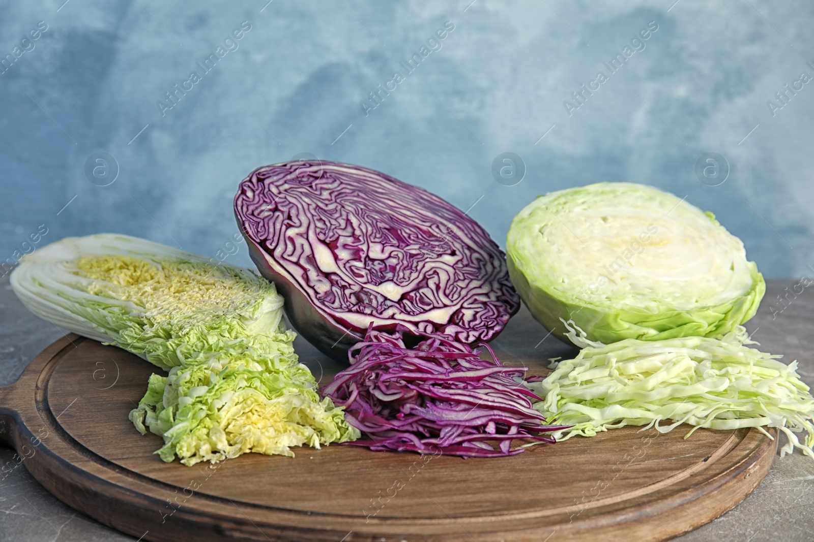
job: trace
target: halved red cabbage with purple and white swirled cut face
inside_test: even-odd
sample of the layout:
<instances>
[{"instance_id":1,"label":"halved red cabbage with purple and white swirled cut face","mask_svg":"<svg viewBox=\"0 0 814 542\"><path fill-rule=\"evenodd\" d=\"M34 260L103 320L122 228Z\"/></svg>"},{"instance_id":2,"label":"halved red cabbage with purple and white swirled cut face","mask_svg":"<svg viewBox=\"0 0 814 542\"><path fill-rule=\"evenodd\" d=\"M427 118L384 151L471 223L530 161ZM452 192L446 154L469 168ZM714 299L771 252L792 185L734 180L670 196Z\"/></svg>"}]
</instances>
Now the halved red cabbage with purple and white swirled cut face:
<instances>
[{"instance_id":1,"label":"halved red cabbage with purple and white swirled cut face","mask_svg":"<svg viewBox=\"0 0 814 542\"><path fill-rule=\"evenodd\" d=\"M492 340L519 308L505 255L440 197L347 164L260 167L234 213L300 335L344 360L365 330Z\"/></svg>"}]
</instances>

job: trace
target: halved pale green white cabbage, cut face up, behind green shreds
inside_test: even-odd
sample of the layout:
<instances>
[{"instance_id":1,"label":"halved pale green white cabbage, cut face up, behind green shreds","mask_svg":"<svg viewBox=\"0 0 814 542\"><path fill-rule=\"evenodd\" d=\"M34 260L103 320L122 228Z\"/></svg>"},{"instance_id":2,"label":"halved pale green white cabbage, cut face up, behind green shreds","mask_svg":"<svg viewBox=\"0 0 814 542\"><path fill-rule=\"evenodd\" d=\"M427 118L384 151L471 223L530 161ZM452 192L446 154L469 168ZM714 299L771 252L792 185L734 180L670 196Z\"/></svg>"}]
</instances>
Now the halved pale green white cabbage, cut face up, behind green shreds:
<instances>
[{"instance_id":1,"label":"halved pale green white cabbage, cut face up, behind green shreds","mask_svg":"<svg viewBox=\"0 0 814 542\"><path fill-rule=\"evenodd\" d=\"M720 338L765 293L742 242L711 213L659 189L598 183L538 197L514 218L509 273L534 317L589 339Z\"/></svg>"}]
</instances>

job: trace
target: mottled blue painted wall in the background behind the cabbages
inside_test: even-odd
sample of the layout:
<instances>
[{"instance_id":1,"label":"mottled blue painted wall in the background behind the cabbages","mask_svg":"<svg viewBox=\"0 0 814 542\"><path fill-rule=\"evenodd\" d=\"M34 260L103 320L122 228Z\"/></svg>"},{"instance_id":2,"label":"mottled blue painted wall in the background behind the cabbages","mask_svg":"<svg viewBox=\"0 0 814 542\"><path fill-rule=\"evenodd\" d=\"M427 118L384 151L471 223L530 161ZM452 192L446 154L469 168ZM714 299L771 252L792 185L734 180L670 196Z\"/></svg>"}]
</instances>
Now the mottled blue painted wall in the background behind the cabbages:
<instances>
[{"instance_id":1,"label":"mottled blue painted wall in the background behind the cabbages","mask_svg":"<svg viewBox=\"0 0 814 542\"><path fill-rule=\"evenodd\" d=\"M0 2L3 260L103 231L215 255L239 180L309 152L477 202L501 245L537 194L654 184L714 212L765 275L814 271L811 2L63 1ZM395 86L378 105L377 85ZM98 152L112 184L86 175ZM519 184L492 176L503 152ZM708 152L723 184L696 176Z\"/></svg>"}]
</instances>

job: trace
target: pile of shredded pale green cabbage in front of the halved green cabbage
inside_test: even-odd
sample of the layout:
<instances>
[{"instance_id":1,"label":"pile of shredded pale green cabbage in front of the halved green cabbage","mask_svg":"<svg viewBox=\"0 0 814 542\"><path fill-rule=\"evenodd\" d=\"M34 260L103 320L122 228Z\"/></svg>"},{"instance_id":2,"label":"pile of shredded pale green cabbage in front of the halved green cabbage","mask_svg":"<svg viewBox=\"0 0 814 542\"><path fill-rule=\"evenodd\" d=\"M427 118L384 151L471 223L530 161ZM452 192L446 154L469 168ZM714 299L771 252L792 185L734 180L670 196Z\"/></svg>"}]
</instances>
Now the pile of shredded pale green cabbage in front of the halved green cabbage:
<instances>
[{"instance_id":1,"label":"pile of shredded pale green cabbage in front of the halved green cabbage","mask_svg":"<svg viewBox=\"0 0 814 542\"><path fill-rule=\"evenodd\" d=\"M565 323L564 323L565 324ZM540 382L527 384L548 423L570 425L557 440L594 436L626 425L666 433L681 423L711 429L778 427L788 436L781 457L799 448L814 458L814 397L799 379L797 362L747 347L757 344L736 327L723 339L681 337L655 342L589 344L565 324L576 358L558 363ZM581 330L580 330L581 331ZM665 426L659 423L669 422ZM795 432L806 431L801 442Z\"/></svg>"}]
</instances>

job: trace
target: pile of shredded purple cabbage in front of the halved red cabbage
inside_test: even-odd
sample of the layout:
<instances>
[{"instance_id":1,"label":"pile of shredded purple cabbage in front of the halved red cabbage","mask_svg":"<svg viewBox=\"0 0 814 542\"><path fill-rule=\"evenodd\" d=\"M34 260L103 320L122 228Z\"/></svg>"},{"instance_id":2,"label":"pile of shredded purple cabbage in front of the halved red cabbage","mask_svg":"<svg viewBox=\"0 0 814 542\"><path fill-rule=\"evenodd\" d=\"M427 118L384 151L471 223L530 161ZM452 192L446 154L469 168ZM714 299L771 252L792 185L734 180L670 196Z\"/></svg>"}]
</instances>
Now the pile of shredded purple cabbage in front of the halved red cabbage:
<instances>
[{"instance_id":1,"label":"pile of shredded purple cabbage in front of the halved red cabbage","mask_svg":"<svg viewBox=\"0 0 814 542\"><path fill-rule=\"evenodd\" d=\"M540 398L521 384L527 367L503 366L489 353L494 361L437 335L408 349L400 332L369 331L349 350L352 365L322 395L344 406L348 425L370 436L348 444L377 451L496 457L522 453L510 448L515 439L553 443L540 433L565 427L544 425L532 408L529 398Z\"/></svg>"}]
</instances>

